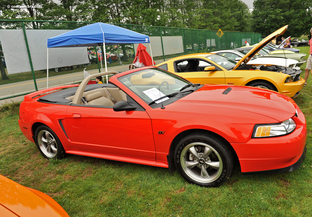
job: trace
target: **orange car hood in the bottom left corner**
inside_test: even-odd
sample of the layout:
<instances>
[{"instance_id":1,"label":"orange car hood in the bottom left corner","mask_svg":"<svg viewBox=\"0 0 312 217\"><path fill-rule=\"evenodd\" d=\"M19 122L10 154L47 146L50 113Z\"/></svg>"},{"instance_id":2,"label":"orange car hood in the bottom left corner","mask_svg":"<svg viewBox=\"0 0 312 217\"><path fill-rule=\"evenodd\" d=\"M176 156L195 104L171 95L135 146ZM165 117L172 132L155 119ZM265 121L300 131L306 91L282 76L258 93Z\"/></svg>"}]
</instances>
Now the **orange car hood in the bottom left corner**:
<instances>
[{"instance_id":1,"label":"orange car hood in the bottom left corner","mask_svg":"<svg viewBox=\"0 0 312 217\"><path fill-rule=\"evenodd\" d=\"M21 217L69 217L65 210L51 197L0 175L1 205ZM3 207L1 208L4 209Z\"/></svg>"}]
</instances>

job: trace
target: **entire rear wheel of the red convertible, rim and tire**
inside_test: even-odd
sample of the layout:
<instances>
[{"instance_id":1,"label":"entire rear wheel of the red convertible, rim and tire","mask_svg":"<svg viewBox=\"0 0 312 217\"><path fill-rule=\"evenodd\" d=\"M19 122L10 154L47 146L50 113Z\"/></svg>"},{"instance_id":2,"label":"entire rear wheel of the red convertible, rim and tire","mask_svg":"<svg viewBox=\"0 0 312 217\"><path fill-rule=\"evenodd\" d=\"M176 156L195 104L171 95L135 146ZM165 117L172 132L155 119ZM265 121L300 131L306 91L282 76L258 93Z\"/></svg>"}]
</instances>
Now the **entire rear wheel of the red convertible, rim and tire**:
<instances>
[{"instance_id":1,"label":"entire rear wheel of the red convertible, rim and tire","mask_svg":"<svg viewBox=\"0 0 312 217\"><path fill-rule=\"evenodd\" d=\"M43 157L62 159L66 155L60 139L50 127L41 125L36 129L35 142Z\"/></svg>"}]
</instances>

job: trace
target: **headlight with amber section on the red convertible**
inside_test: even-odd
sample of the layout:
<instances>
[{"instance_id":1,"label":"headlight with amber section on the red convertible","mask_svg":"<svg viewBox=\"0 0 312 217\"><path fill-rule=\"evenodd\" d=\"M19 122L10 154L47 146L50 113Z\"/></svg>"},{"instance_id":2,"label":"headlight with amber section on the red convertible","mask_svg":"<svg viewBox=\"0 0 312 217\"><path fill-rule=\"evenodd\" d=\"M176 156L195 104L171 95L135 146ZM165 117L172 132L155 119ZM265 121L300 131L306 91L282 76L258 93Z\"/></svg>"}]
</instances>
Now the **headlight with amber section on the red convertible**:
<instances>
[{"instance_id":1,"label":"headlight with amber section on the red convertible","mask_svg":"<svg viewBox=\"0 0 312 217\"><path fill-rule=\"evenodd\" d=\"M276 124L257 124L252 133L252 138L283 136L290 134L295 128L296 123L292 118Z\"/></svg>"}]
</instances>

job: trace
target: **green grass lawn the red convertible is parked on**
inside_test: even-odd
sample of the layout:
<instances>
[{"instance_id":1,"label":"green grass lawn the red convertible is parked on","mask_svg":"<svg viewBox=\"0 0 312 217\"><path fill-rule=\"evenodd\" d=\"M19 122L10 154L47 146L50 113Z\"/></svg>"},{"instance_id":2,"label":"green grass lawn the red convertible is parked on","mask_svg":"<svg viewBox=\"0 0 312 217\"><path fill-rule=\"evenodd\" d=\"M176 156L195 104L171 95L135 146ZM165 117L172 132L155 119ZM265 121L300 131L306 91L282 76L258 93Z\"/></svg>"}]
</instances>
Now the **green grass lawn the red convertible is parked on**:
<instances>
[{"instance_id":1,"label":"green grass lawn the red convertible is parked on","mask_svg":"<svg viewBox=\"0 0 312 217\"><path fill-rule=\"evenodd\" d=\"M308 54L308 47L299 49ZM0 174L45 192L72 217L311 216L311 90L310 75L295 98L307 120L308 149L302 166L293 172L243 175L236 165L221 187L202 188L166 168L78 155L49 161L20 131L15 103L0 107Z\"/></svg>"}]
</instances>

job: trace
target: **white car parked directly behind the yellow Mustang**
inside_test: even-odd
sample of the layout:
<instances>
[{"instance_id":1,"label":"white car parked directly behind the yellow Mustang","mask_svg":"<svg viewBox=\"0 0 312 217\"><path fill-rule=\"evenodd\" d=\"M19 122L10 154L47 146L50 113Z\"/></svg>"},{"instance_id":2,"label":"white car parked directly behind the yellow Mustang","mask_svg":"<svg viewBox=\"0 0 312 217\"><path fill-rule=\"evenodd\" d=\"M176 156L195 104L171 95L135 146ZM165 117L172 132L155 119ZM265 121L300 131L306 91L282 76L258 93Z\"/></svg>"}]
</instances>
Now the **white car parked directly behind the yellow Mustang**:
<instances>
[{"instance_id":1,"label":"white car parked directly behind the yellow Mustang","mask_svg":"<svg viewBox=\"0 0 312 217\"><path fill-rule=\"evenodd\" d=\"M213 51L210 53L220 54L236 62L238 62L241 58L243 58L246 55L246 53L240 50L218 50L218 51ZM255 56L253 59L251 59L248 62L248 64L280 65L280 66L291 67L291 68L300 70L300 67L297 66L297 63L298 61L295 59L289 59L289 58L283 58L283 57L264 57L264 56L258 56L258 57Z\"/></svg>"}]
</instances>

